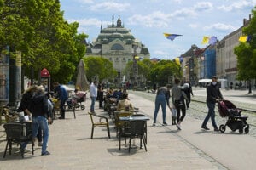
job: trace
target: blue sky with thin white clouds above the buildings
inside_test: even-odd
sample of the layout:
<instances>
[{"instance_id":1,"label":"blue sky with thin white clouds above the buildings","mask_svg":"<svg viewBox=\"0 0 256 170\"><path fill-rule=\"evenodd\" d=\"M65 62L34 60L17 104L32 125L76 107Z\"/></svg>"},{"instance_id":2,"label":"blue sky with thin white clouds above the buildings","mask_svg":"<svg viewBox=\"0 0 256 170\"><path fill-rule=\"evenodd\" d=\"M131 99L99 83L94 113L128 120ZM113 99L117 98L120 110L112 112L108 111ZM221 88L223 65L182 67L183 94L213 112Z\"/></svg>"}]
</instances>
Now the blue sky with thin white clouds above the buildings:
<instances>
[{"instance_id":1,"label":"blue sky with thin white clouds above the buildings","mask_svg":"<svg viewBox=\"0 0 256 170\"><path fill-rule=\"evenodd\" d=\"M151 58L174 59L195 44L199 48L204 36L223 39L249 18L256 0L60 0L64 18L79 22L79 33L92 42L119 18L125 28L142 42ZM173 41L163 33L179 34Z\"/></svg>"}]
</instances>

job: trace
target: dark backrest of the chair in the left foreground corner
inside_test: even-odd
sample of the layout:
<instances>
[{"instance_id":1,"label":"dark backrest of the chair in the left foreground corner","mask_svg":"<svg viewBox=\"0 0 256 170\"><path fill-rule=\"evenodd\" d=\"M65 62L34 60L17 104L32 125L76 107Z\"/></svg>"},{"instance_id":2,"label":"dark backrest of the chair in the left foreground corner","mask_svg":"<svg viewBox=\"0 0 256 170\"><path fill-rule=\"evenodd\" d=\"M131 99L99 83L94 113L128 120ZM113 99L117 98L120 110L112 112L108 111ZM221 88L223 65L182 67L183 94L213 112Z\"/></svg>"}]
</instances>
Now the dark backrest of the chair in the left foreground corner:
<instances>
[{"instance_id":1,"label":"dark backrest of the chair in the left foreground corner","mask_svg":"<svg viewBox=\"0 0 256 170\"><path fill-rule=\"evenodd\" d=\"M26 134L24 134L24 129L26 129L25 124L21 123L6 123L3 125L7 139L20 140Z\"/></svg>"}]
</instances>

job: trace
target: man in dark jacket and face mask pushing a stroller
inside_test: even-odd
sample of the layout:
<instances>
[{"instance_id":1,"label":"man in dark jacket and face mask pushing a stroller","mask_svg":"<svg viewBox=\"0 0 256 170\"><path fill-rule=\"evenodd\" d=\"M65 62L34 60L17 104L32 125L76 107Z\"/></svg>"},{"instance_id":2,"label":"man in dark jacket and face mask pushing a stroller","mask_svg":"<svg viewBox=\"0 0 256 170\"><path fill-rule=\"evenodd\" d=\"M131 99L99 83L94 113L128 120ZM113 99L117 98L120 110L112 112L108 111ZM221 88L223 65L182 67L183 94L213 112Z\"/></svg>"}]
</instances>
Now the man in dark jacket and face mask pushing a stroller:
<instances>
[{"instance_id":1,"label":"man in dark jacket and face mask pushing a stroller","mask_svg":"<svg viewBox=\"0 0 256 170\"><path fill-rule=\"evenodd\" d=\"M218 99L223 99L223 96L219 90L218 85L218 78L213 76L212 82L209 86L207 86L207 107L208 107L208 114L204 120L204 122L201 125L201 128L205 130L210 130L207 127L207 122L209 121L211 117L212 121L212 127L214 128L214 131L218 131L217 124L215 122L215 104L218 101Z\"/></svg>"}]
</instances>

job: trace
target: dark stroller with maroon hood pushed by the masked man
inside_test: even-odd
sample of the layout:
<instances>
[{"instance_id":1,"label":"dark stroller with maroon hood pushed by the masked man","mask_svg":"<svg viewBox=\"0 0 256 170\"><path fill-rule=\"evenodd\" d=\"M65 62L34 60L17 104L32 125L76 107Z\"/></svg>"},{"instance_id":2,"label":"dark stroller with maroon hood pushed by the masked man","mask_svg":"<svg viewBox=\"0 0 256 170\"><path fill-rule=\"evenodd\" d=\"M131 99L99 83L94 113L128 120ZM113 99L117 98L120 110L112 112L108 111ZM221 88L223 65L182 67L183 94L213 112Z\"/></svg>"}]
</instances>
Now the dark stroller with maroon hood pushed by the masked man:
<instances>
[{"instance_id":1,"label":"dark stroller with maroon hood pushed by the masked man","mask_svg":"<svg viewBox=\"0 0 256 170\"><path fill-rule=\"evenodd\" d=\"M226 124L219 126L219 131L224 133L226 126L235 132L237 129L239 133L249 133L249 125L247 124L247 116L241 115L241 109L236 108L236 105L229 100L218 101L219 116L228 117Z\"/></svg>"}]
</instances>

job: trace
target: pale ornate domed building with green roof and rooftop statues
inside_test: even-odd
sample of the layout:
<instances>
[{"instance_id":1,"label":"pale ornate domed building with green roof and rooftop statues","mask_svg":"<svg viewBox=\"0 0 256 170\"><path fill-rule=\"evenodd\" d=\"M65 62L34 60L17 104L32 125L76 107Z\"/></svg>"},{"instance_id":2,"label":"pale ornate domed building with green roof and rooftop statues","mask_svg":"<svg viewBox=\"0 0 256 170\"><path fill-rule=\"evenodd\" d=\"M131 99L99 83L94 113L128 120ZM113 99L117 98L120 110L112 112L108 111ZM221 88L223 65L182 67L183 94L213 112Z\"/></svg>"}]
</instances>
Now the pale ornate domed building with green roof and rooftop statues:
<instances>
[{"instance_id":1,"label":"pale ornate domed building with green roof and rooftop statues","mask_svg":"<svg viewBox=\"0 0 256 170\"><path fill-rule=\"evenodd\" d=\"M131 30L122 25L120 17L116 25L113 20L112 17L112 25L108 25L107 28L101 26L101 32L96 40L88 44L85 57L99 56L109 59L118 71L117 78L122 81L123 71L129 61L135 56L139 59L149 59L150 54L148 48L131 34Z\"/></svg>"}]
</instances>

